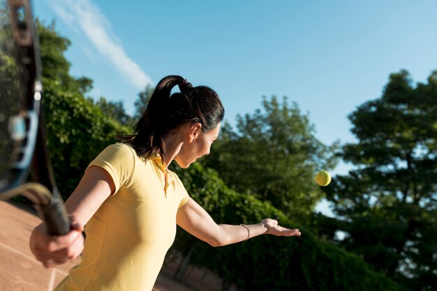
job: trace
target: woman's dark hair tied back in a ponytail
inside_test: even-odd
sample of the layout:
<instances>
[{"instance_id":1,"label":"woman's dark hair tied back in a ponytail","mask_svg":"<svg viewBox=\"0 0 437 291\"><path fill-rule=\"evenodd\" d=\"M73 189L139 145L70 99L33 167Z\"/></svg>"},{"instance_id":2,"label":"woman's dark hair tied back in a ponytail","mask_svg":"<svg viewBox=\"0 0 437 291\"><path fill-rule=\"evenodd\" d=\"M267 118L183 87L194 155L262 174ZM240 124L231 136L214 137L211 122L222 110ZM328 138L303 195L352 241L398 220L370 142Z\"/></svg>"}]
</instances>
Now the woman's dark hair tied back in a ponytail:
<instances>
[{"instance_id":1,"label":"woman's dark hair tied back in a ponytail","mask_svg":"<svg viewBox=\"0 0 437 291\"><path fill-rule=\"evenodd\" d=\"M179 85L180 93L170 95ZM133 135L117 136L145 158L157 151L165 156L164 138L180 125L200 123L202 132L221 123L225 109L217 93L207 86L193 87L181 76L167 76L158 82Z\"/></svg>"}]
</instances>

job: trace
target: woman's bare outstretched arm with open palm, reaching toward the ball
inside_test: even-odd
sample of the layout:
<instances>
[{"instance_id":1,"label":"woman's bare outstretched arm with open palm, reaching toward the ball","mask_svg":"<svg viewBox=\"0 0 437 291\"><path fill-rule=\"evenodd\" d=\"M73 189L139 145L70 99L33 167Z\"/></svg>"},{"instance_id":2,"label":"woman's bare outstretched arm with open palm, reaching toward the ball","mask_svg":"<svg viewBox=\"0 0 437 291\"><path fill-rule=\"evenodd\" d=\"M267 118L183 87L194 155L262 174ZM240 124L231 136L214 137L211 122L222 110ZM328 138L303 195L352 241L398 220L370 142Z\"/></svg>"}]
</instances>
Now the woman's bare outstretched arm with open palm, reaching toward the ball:
<instances>
[{"instance_id":1,"label":"woman's bare outstretched arm with open palm, reaching toward the ball","mask_svg":"<svg viewBox=\"0 0 437 291\"><path fill-rule=\"evenodd\" d=\"M298 229L283 228L275 219L263 219L257 224L232 226L217 224L195 200L188 200L177 212L177 225L212 246L225 246L251 237L269 234L300 236Z\"/></svg>"}]
</instances>

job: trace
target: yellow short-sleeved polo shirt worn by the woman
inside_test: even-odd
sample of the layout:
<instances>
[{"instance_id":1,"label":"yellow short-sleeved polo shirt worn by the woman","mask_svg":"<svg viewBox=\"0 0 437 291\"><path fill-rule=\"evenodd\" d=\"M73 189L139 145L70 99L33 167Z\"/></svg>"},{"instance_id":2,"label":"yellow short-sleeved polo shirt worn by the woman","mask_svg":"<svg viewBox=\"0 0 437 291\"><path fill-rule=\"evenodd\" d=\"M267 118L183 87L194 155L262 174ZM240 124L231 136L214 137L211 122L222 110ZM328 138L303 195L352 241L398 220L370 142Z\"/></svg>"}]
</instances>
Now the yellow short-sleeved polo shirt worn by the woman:
<instances>
[{"instance_id":1,"label":"yellow short-sleeved polo shirt worn by the woman","mask_svg":"<svg viewBox=\"0 0 437 291\"><path fill-rule=\"evenodd\" d=\"M175 239L177 210L189 199L181 180L158 155L145 160L124 143L89 166L108 171L115 191L85 227L82 261L55 290L152 290Z\"/></svg>"}]
</instances>

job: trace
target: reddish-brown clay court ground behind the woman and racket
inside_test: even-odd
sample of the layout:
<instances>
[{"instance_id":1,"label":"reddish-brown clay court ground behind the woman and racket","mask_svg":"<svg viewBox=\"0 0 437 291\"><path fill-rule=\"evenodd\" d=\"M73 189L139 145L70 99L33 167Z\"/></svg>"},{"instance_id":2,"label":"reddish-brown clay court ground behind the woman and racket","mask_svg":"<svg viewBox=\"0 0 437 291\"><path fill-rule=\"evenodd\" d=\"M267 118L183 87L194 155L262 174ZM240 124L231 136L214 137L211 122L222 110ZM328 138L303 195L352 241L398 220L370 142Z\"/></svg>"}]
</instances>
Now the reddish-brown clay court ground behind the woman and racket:
<instances>
[{"instance_id":1,"label":"reddish-brown clay court ground behind the woman and racket","mask_svg":"<svg viewBox=\"0 0 437 291\"><path fill-rule=\"evenodd\" d=\"M52 290L80 259L55 269L45 269L29 249L31 230L40 223L34 211L0 201L0 291ZM170 278L177 264L166 265L154 291L220 290L221 281L206 270L188 268L183 283ZM191 286L191 287L190 287ZM233 289L233 288L232 288Z\"/></svg>"}]
</instances>

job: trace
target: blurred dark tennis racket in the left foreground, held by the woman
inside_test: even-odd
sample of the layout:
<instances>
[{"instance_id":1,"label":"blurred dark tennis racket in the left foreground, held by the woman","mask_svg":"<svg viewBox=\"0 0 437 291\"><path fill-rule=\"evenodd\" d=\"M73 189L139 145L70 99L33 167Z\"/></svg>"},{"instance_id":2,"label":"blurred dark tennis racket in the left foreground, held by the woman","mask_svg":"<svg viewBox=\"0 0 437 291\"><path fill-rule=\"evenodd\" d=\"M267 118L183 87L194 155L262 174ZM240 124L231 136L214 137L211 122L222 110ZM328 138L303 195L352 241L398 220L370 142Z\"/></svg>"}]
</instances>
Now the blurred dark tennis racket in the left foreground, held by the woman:
<instances>
[{"instance_id":1,"label":"blurred dark tennis racket in the left foreground, held by the woman","mask_svg":"<svg viewBox=\"0 0 437 291\"><path fill-rule=\"evenodd\" d=\"M29 198L48 233L64 235L71 226L45 146L42 91L30 1L0 0L0 200Z\"/></svg>"}]
</instances>

